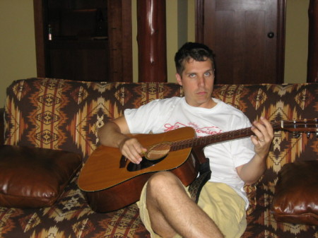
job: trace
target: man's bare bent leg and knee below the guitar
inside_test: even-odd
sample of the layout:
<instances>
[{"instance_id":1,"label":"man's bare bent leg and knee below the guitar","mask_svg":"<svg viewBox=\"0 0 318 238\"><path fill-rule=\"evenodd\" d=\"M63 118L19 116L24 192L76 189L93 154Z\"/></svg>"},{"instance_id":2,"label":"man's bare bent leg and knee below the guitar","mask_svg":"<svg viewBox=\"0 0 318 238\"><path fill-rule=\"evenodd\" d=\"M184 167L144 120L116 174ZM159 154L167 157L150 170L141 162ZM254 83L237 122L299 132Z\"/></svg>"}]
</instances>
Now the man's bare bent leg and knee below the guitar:
<instances>
[{"instance_id":1,"label":"man's bare bent leg and knee below the guitar","mask_svg":"<svg viewBox=\"0 0 318 238\"><path fill-rule=\"evenodd\" d=\"M223 237L216 224L192 201L171 172L148 181L146 203L153 231L161 237Z\"/></svg>"}]
</instances>

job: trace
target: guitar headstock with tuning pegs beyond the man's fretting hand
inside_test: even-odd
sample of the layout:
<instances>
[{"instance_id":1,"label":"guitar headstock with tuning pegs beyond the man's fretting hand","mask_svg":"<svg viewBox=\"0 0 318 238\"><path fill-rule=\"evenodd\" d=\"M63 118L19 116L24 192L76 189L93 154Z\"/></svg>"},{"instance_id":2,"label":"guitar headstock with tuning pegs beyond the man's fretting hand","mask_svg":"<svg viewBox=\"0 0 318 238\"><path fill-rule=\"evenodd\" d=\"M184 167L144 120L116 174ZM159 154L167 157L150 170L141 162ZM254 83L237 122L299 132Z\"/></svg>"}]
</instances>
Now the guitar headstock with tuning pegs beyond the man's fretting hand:
<instances>
[{"instance_id":1,"label":"guitar headstock with tuning pegs beyond the man's fretting hand","mask_svg":"<svg viewBox=\"0 0 318 238\"><path fill-rule=\"evenodd\" d=\"M318 119L301 119L301 120L290 120L290 121L274 121L273 129L290 131L293 133L307 132L316 133L318 136Z\"/></svg>"}]
</instances>

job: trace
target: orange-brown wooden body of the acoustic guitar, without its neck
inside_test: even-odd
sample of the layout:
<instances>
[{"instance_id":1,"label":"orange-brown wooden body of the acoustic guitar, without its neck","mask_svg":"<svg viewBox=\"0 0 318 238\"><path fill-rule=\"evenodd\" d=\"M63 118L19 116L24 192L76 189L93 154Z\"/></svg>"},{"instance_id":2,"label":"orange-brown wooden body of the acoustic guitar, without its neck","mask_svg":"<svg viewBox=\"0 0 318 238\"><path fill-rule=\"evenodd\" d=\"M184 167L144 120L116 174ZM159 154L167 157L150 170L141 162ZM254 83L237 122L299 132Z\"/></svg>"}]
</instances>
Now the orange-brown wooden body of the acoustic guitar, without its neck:
<instances>
[{"instance_id":1,"label":"orange-brown wooden body of the acoustic guitar, without its neck","mask_svg":"<svg viewBox=\"0 0 318 238\"><path fill-rule=\"evenodd\" d=\"M183 127L159 134L131 135L145 148L167 141L184 141L195 136L194 129ZM101 145L88 157L78 177L78 187L88 192L93 210L110 212L139 201L143 185L155 172L170 170L185 186L198 174L196 162L189 156L192 148L170 151L150 167L136 166L124 160L118 148ZM146 161L143 158L143 161ZM148 165L147 165L148 166ZM131 171L132 170L132 171Z\"/></svg>"}]
</instances>

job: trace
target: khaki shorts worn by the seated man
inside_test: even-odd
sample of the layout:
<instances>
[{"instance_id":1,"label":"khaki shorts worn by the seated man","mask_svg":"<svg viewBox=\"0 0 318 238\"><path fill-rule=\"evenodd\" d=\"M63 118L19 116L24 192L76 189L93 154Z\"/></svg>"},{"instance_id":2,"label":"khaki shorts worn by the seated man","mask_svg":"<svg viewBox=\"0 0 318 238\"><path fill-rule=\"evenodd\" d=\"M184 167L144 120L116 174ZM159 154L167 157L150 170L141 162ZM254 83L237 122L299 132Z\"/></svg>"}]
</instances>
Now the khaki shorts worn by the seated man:
<instances>
[{"instance_id":1,"label":"khaki shorts worn by the seated man","mask_svg":"<svg viewBox=\"0 0 318 238\"><path fill-rule=\"evenodd\" d=\"M143 186L141 199L137 202L143 225L152 238L160 238L153 232L146 207L146 186ZM184 188L187 191L187 188ZM189 192L187 191L189 195ZM189 195L190 196L190 195ZM241 237L247 227L245 201L230 186L207 182L201 190L198 205L218 225L226 238ZM180 237L178 234L175 238Z\"/></svg>"}]
</instances>

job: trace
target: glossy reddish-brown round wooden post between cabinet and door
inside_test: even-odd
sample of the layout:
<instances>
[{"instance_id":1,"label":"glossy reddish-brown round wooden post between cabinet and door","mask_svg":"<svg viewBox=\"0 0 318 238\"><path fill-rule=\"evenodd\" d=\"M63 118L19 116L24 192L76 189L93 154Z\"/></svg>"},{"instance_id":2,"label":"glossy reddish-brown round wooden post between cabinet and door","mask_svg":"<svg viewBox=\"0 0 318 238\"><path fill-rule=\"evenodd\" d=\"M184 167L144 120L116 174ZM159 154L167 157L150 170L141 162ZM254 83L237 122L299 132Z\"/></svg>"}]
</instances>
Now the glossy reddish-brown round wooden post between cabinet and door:
<instances>
[{"instance_id":1,"label":"glossy reddish-brown round wooden post between cabinet and door","mask_svg":"<svg viewBox=\"0 0 318 238\"><path fill-rule=\"evenodd\" d=\"M137 0L139 82L167 82L165 0Z\"/></svg>"}]
</instances>

